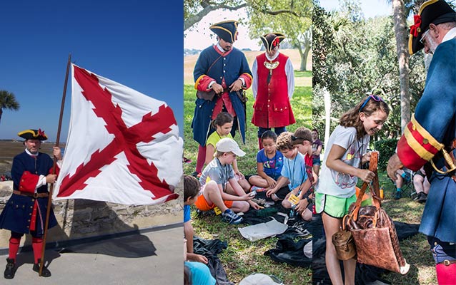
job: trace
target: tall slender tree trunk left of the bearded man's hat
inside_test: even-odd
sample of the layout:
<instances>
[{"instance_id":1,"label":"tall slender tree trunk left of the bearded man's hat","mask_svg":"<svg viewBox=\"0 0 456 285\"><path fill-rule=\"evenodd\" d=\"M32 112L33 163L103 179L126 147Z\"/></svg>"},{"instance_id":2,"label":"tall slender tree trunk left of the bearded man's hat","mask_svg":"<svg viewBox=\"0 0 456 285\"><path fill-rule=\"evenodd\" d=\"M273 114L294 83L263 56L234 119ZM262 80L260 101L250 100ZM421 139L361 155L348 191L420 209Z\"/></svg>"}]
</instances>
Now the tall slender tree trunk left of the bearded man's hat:
<instances>
[{"instance_id":1,"label":"tall slender tree trunk left of the bearded man's hat","mask_svg":"<svg viewBox=\"0 0 456 285\"><path fill-rule=\"evenodd\" d=\"M407 21L405 19L405 5L403 0L393 0L393 19L395 21L396 51L399 63L400 78L400 125L403 132L410 121L410 92L409 92L409 52Z\"/></svg>"}]
</instances>

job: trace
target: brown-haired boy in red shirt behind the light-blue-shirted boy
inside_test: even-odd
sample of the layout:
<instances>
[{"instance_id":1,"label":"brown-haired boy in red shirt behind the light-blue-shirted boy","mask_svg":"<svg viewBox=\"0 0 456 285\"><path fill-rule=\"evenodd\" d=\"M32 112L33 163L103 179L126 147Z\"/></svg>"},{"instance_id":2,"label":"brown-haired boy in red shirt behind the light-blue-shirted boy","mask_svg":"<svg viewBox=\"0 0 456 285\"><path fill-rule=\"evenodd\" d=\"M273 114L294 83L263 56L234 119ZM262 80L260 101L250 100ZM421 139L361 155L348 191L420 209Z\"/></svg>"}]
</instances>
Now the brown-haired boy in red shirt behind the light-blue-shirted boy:
<instances>
[{"instance_id":1,"label":"brown-haired boy in red shirt behind the light-blue-shirted boy","mask_svg":"<svg viewBox=\"0 0 456 285\"><path fill-rule=\"evenodd\" d=\"M312 220L312 198L314 192L315 180L314 177L317 175L313 171L312 162L312 132L308 128L300 127L292 135L292 145L297 148L299 153L304 155L305 168L307 177L309 177L309 191L303 196L303 199L299 199L296 205L296 211L301 214L304 221Z\"/></svg>"}]
</instances>

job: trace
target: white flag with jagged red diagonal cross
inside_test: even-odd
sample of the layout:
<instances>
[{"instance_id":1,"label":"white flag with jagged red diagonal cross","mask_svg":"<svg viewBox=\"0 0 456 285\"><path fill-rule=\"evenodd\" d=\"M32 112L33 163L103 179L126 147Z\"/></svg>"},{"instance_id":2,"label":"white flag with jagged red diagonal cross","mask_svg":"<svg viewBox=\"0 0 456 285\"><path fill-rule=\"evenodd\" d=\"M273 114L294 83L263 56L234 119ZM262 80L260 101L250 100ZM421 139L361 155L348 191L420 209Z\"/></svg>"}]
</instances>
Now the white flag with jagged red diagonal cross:
<instances>
[{"instance_id":1,"label":"white flag with jagged red diagonal cross","mask_svg":"<svg viewBox=\"0 0 456 285\"><path fill-rule=\"evenodd\" d=\"M157 204L179 197L182 138L159 100L71 65L71 119L54 199Z\"/></svg>"}]
</instances>

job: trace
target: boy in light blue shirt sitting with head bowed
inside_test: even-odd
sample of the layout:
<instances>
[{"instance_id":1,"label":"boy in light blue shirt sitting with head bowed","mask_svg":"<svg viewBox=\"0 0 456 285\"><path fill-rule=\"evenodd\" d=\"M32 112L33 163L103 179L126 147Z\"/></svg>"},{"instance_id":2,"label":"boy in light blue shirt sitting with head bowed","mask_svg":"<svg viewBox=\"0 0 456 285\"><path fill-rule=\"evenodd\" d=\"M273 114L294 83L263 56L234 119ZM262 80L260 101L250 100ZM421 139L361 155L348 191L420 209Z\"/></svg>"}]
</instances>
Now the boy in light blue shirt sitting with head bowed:
<instances>
[{"instance_id":1,"label":"boy in light blue shirt sitting with head bowed","mask_svg":"<svg viewBox=\"0 0 456 285\"><path fill-rule=\"evenodd\" d=\"M267 190L266 196L274 201L284 199L282 206L290 208L291 203L287 201L290 195L293 193L302 199L302 195L309 190L310 182L307 181L304 157L292 145L292 133L284 132L279 135L277 150L285 157L284 165L277 184Z\"/></svg>"}]
</instances>

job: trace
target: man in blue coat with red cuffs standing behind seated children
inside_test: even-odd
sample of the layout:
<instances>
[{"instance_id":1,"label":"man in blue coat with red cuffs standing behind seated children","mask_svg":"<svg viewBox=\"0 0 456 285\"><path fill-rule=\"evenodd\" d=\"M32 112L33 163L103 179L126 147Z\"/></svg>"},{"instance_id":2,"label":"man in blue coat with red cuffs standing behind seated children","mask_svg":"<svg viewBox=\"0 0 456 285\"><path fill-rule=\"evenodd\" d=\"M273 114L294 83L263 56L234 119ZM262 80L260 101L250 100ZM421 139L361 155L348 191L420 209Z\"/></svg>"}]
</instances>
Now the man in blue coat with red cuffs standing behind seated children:
<instances>
[{"instance_id":1,"label":"man in blue coat with red cuffs standing behind seated children","mask_svg":"<svg viewBox=\"0 0 456 285\"><path fill-rule=\"evenodd\" d=\"M232 136L237 128L242 141L245 140L245 109L242 90L252 84L247 58L233 47L237 40L237 21L222 21L210 26L217 34L217 44L204 49L194 67L194 88L214 91L214 98L199 97L196 101L192 121L193 138L199 143L197 168L194 175L201 173L206 157L206 140L214 131L209 125L217 115L226 111L233 115Z\"/></svg>"}]
</instances>

